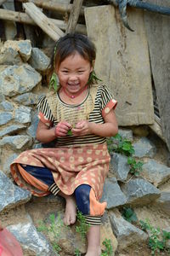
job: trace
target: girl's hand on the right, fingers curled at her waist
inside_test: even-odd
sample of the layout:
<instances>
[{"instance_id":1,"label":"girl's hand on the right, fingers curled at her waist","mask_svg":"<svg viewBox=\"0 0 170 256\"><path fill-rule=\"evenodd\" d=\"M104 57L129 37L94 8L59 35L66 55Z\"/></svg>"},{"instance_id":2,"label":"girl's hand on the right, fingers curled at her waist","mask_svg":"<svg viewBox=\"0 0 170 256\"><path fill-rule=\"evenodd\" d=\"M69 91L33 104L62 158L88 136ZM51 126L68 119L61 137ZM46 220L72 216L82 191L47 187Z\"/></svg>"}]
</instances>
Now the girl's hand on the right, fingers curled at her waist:
<instances>
[{"instance_id":1,"label":"girl's hand on the right, fingers curled at her waist","mask_svg":"<svg viewBox=\"0 0 170 256\"><path fill-rule=\"evenodd\" d=\"M72 134L74 136L83 136L83 135L87 135L89 133L91 133L90 131L90 127L91 127L92 123L88 122L88 121L80 121L77 123L77 125L71 129Z\"/></svg>"}]
</instances>

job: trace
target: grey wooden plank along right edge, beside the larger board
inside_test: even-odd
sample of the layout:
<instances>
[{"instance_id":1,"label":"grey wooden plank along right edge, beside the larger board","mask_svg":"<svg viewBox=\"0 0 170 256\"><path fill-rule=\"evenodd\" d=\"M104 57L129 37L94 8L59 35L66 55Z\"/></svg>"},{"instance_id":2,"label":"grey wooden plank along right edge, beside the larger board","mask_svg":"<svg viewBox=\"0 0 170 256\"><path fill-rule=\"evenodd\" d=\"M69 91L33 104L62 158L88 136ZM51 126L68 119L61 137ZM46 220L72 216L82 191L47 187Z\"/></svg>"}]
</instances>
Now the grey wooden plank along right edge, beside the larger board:
<instances>
[{"instance_id":1,"label":"grey wooden plank along right edge, beside the larger board","mask_svg":"<svg viewBox=\"0 0 170 256\"><path fill-rule=\"evenodd\" d=\"M149 2L170 7L169 0L150 0ZM150 65L156 88L161 128L170 151L170 17L144 12L144 23L150 49Z\"/></svg>"}]
</instances>

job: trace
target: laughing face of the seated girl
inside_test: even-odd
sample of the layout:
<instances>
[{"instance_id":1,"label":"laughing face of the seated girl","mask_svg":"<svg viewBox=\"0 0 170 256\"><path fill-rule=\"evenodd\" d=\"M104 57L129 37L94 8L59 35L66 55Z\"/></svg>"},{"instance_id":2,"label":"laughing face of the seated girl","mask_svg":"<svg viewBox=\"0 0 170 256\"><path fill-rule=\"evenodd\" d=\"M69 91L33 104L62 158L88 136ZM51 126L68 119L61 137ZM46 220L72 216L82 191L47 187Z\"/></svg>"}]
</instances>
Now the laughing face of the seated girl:
<instances>
[{"instance_id":1,"label":"laughing face of the seated girl","mask_svg":"<svg viewBox=\"0 0 170 256\"><path fill-rule=\"evenodd\" d=\"M77 52L65 58L56 71L59 84L71 95L77 94L79 90L88 83L89 74L93 71L88 60Z\"/></svg>"}]
</instances>

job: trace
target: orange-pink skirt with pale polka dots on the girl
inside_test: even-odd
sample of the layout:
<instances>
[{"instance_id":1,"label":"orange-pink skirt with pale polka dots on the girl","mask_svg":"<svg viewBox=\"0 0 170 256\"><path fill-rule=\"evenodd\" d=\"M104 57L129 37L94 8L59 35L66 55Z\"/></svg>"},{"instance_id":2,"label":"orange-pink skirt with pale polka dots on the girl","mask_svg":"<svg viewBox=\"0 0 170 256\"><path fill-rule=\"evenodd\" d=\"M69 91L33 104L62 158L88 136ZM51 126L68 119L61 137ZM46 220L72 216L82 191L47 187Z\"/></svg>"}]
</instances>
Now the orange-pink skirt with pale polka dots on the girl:
<instances>
[{"instance_id":1,"label":"orange-pink skirt with pale polka dots on the girl","mask_svg":"<svg viewBox=\"0 0 170 256\"><path fill-rule=\"evenodd\" d=\"M14 181L32 195L48 195L48 185L31 176L21 165L47 167L54 182L65 195L71 195L82 184L94 189L96 199L102 196L111 157L107 144L78 145L63 148L38 148L20 154L11 164Z\"/></svg>"}]
</instances>

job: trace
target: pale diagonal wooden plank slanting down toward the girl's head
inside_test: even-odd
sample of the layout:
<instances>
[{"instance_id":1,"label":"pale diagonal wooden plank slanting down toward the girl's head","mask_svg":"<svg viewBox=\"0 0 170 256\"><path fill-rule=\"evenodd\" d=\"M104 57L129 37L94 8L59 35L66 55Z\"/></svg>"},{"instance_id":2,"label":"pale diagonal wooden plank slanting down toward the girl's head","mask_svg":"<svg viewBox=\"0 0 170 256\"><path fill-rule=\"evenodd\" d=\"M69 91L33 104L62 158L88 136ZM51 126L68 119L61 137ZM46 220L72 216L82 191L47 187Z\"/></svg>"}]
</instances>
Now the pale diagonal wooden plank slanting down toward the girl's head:
<instances>
[{"instance_id":1,"label":"pale diagonal wooden plank slanting down toward the girl's head","mask_svg":"<svg viewBox=\"0 0 170 256\"><path fill-rule=\"evenodd\" d=\"M23 6L26 9L26 13L35 21L37 26L40 26L42 31L46 32L54 41L64 36L64 32L54 22L49 20L46 15L42 14L41 10L34 3L23 3Z\"/></svg>"}]
</instances>

